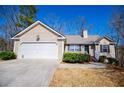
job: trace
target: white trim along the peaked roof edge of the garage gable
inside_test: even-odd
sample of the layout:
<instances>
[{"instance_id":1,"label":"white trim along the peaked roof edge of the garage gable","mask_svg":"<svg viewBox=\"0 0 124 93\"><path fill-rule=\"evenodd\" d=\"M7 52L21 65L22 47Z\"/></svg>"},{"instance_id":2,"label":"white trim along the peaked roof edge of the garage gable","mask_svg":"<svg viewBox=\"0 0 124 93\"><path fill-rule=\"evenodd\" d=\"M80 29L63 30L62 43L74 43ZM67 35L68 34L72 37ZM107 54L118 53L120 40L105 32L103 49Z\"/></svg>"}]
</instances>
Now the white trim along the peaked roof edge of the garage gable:
<instances>
[{"instance_id":1,"label":"white trim along the peaked roof edge of the garage gable","mask_svg":"<svg viewBox=\"0 0 124 93\"><path fill-rule=\"evenodd\" d=\"M33 26L37 25L37 24L41 24L44 27L48 28L50 31L54 32L55 34L61 36L63 39L65 39L65 36L61 35L60 33L58 33L57 31L53 30L52 28L50 28L49 26L47 26L46 24L42 23L41 21L36 21L35 23L33 23L32 25L30 25L29 27L27 27L26 29L24 29L23 31L21 31L20 33L18 33L17 35L15 35L14 37L12 37L11 39L18 39L16 38L17 36L25 33L26 31L28 31L30 28L32 28Z\"/></svg>"}]
</instances>

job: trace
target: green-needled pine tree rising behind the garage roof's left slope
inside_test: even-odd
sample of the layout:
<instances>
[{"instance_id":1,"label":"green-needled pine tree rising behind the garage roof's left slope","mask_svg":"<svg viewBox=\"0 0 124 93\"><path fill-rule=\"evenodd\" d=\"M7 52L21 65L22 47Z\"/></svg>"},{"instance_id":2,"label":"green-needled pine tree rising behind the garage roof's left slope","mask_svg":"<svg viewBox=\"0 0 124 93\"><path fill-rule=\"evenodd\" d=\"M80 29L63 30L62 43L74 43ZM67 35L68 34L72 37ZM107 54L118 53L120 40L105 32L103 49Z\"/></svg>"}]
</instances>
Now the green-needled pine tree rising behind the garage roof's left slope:
<instances>
[{"instance_id":1,"label":"green-needled pine tree rising behind the garage roof's left slope","mask_svg":"<svg viewBox=\"0 0 124 93\"><path fill-rule=\"evenodd\" d=\"M19 19L20 22L17 23L17 27L20 28L25 28L34 23L35 18L36 18L36 13L37 13L37 8L36 6L33 5L23 5L19 6Z\"/></svg>"}]
</instances>

